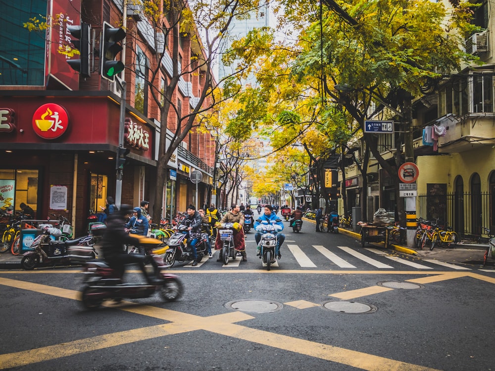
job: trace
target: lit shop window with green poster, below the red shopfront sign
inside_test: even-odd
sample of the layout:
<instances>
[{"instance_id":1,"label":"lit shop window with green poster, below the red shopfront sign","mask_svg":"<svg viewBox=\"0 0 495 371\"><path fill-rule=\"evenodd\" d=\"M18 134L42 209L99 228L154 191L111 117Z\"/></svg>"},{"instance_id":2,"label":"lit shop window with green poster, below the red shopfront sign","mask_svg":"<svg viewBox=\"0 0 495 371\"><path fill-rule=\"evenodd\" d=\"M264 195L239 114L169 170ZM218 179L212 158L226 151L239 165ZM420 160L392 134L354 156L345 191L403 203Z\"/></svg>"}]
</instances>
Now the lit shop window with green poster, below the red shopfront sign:
<instances>
[{"instance_id":1,"label":"lit shop window with green poster, below the red shopfront sign","mask_svg":"<svg viewBox=\"0 0 495 371\"><path fill-rule=\"evenodd\" d=\"M20 212L21 203L38 210L38 170L0 170L0 210Z\"/></svg>"}]
</instances>

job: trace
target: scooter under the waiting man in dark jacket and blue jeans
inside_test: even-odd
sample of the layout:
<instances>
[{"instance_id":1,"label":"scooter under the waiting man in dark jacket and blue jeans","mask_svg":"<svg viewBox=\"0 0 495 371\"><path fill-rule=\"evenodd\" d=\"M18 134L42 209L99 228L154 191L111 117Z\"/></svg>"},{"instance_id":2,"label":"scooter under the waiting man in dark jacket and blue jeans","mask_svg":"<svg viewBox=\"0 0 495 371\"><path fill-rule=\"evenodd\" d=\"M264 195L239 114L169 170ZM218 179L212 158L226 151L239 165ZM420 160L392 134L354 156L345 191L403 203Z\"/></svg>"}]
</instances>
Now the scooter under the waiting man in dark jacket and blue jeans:
<instances>
[{"instance_id":1,"label":"scooter under the waiting man in dark jacket and blue jeans","mask_svg":"<svg viewBox=\"0 0 495 371\"><path fill-rule=\"evenodd\" d=\"M165 256L163 257L163 264L166 267L172 267L175 261L179 263L190 262L194 260L193 251L188 249L187 239L191 238L190 233L187 231L187 226L181 224L177 227L177 232L172 234L165 246ZM196 252L198 255L197 261L200 262L206 251L206 239L209 238L207 233L201 233L198 243L196 243Z\"/></svg>"}]
</instances>

